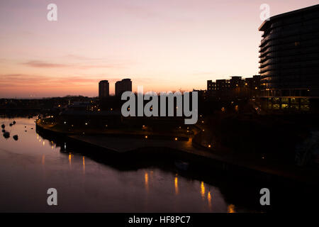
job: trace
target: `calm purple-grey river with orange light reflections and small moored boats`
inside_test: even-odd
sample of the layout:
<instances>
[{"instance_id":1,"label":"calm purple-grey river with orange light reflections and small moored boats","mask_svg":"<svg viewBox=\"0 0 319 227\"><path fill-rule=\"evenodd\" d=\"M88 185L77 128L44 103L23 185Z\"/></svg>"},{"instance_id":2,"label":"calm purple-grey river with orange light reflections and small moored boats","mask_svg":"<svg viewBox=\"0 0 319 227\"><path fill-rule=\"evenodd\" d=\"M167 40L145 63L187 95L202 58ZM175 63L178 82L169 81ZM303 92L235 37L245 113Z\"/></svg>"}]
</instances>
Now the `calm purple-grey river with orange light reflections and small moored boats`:
<instances>
[{"instance_id":1,"label":"calm purple-grey river with orange light reflections and small moored boats","mask_svg":"<svg viewBox=\"0 0 319 227\"><path fill-rule=\"evenodd\" d=\"M235 211L218 187L157 167L122 171L62 153L35 132L33 118L14 120L9 127L13 119L0 118L11 133L0 138L0 211ZM46 204L50 187L57 189L59 206Z\"/></svg>"}]
</instances>

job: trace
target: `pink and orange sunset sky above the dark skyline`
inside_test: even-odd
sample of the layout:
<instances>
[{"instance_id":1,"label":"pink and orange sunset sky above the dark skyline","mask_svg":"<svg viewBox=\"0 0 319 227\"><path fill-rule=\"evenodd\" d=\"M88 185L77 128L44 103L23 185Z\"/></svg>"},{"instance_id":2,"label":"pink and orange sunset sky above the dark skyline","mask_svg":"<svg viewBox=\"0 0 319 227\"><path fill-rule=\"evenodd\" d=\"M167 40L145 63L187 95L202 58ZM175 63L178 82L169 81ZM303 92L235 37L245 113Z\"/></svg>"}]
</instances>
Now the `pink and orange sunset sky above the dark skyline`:
<instances>
[{"instance_id":1,"label":"pink and orange sunset sky above the dark skyline","mask_svg":"<svg viewBox=\"0 0 319 227\"><path fill-rule=\"evenodd\" d=\"M261 4L274 16L318 0L0 0L0 98L97 96L101 79L112 94L123 78L167 92L252 77Z\"/></svg>"}]
</instances>

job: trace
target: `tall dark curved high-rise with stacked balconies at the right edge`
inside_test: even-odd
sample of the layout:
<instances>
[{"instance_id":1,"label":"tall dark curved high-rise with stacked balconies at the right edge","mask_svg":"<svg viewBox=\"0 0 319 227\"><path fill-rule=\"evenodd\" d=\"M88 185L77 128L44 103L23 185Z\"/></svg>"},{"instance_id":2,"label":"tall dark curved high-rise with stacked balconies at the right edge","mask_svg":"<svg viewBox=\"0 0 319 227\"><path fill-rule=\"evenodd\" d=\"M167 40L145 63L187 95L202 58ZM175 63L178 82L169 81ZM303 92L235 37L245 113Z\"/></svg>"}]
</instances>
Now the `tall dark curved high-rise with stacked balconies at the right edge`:
<instances>
[{"instance_id":1,"label":"tall dark curved high-rise with stacked balconies at the right edge","mask_svg":"<svg viewBox=\"0 0 319 227\"><path fill-rule=\"evenodd\" d=\"M319 97L319 5L272 16L259 31L265 107L307 111Z\"/></svg>"}]
</instances>

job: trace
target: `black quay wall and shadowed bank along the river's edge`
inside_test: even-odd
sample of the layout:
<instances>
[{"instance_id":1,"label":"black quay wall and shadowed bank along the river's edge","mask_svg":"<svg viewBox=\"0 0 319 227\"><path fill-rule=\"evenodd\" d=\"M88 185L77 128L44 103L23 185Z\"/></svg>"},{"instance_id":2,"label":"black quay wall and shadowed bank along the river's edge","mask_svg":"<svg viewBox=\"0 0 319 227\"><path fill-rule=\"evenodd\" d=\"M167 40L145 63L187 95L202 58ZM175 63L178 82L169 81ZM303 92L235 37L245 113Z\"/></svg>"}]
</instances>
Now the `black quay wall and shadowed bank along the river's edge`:
<instances>
[{"instance_id":1,"label":"black quay wall and shadowed bank along the river's edge","mask_svg":"<svg viewBox=\"0 0 319 227\"><path fill-rule=\"evenodd\" d=\"M307 201L315 199L318 192L317 184L304 184L180 150L141 148L128 153L118 153L81 140L74 140L67 135L47 131L39 126L36 127L36 130L43 138L52 140L57 146L60 146L60 152L65 155L73 152L86 155L96 162L124 172L147 167L156 167L165 172L177 172L178 175L190 180L197 179L222 188L222 191L229 196L230 202L236 202L239 206L242 204L242 207L249 207L251 211L267 213L284 211L287 204L293 207L304 207L307 210ZM65 143L67 143L66 150L64 149ZM150 149L152 149L151 153ZM189 170L179 170L175 165L177 160L189 162ZM244 187L238 188L238 184ZM263 187L269 188L272 192L272 206L260 206L259 204L259 190Z\"/></svg>"}]
</instances>

